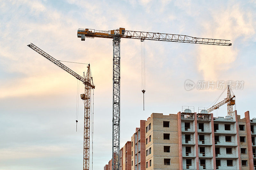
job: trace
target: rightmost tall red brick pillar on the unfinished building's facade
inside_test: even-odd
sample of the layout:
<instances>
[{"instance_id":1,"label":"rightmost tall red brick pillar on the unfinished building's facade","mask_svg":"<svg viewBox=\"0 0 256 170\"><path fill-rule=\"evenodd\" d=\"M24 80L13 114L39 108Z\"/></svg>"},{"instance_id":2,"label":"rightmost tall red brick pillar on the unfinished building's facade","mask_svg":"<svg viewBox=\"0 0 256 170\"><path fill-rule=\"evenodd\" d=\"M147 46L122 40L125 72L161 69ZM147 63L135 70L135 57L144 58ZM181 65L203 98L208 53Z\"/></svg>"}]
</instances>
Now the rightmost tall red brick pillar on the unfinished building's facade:
<instances>
[{"instance_id":1,"label":"rightmost tall red brick pillar on the unfinished building's facade","mask_svg":"<svg viewBox=\"0 0 256 170\"><path fill-rule=\"evenodd\" d=\"M244 113L245 121L246 121L246 134L247 134L247 144L248 144L248 155L249 155L249 167L250 170L254 170L253 165L253 156L252 156L252 133L251 133L251 120L249 111Z\"/></svg>"}]
</instances>

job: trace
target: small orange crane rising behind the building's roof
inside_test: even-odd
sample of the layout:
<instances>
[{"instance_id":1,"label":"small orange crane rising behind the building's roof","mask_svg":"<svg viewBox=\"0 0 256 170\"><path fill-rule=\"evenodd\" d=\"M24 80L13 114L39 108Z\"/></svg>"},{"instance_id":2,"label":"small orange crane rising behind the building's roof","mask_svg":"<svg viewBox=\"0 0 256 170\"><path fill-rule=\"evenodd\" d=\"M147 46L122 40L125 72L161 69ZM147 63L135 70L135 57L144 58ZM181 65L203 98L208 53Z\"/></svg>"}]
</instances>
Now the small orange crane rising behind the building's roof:
<instances>
[{"instance_id":1,"label":"small orange crane rising behind the building's roof","mask_svg":"<svg viewBox=\"0 0 256 170\"><path fill-rule=\"evenodd\" d=\"M232 91L232 89L230 89L230 86L228 85L227 88L228 89L228 94L227 94L227 98L225 98L223 101L221 101L220 103L215 104L214 106L212 106L211 108L207 109L207 112L210 113L212 110L215 109L219 109L220 106L224 105L227 103L228 105L228 116L232 116L232 112L233 112L233 106L236 104L235 101L235 95ZM226 90L225 89L225 90ZM232 92L232 95L231 95Z\"/></svg>"}]
</instances>

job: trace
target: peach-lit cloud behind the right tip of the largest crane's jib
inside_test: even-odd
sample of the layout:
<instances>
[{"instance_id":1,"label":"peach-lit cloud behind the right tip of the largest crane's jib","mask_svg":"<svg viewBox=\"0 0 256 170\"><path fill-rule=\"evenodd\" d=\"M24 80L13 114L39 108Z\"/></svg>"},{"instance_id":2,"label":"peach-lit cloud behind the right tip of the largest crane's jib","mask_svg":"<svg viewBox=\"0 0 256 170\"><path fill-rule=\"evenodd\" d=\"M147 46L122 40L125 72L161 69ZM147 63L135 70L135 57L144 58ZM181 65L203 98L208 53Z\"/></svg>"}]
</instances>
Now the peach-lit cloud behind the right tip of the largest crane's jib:
<instances>
[{"instance_id":1,"label":"peach-lit cloud behind the right tip of the largest crane's jib","mask_svg":"<svg viewBox=\"0 0 256 170\"><path fill-rule=\"evenodd\" d=\"M205 38L228 39L232 46L200 46L198 70L202 71L205 80L217 80L221 72L232 67L239 53L239 46L247 45L246 41L255 34L255 18L250 11L242 10L239 4L228 9L212 11L212 19L202 24Z\"/></svg>"}]
</instances>

